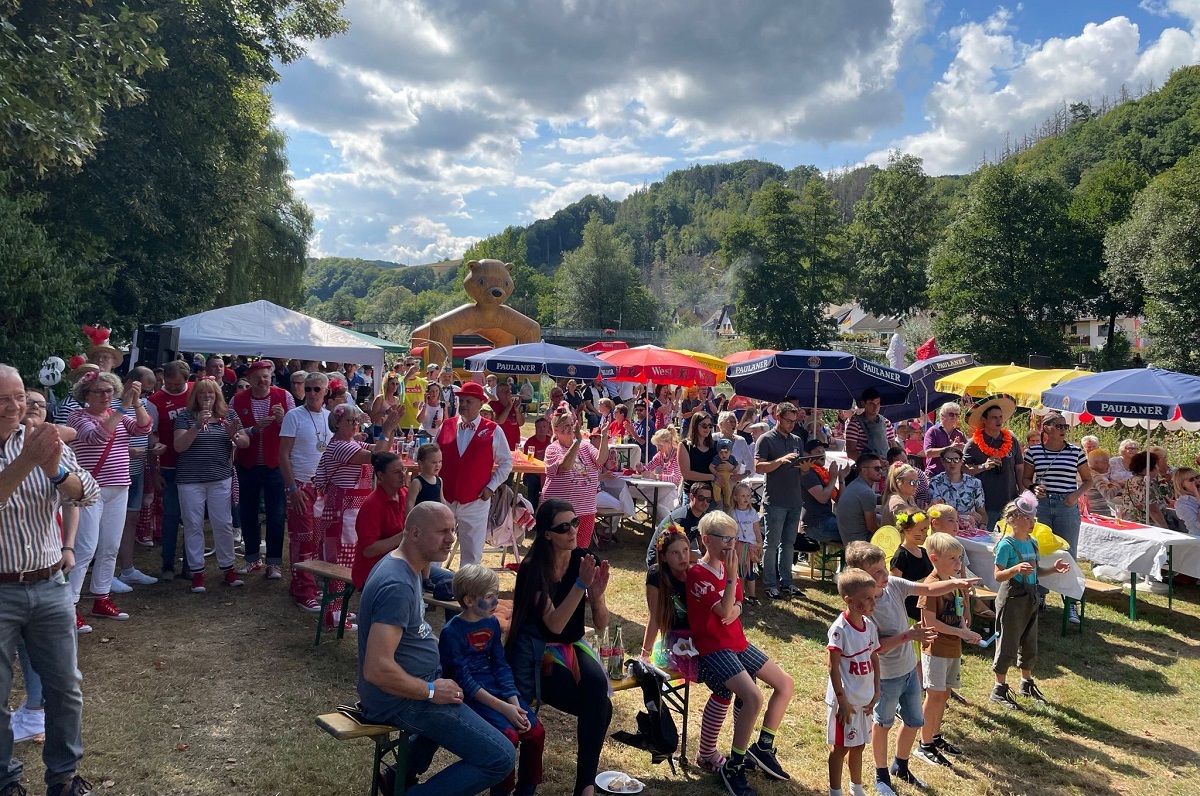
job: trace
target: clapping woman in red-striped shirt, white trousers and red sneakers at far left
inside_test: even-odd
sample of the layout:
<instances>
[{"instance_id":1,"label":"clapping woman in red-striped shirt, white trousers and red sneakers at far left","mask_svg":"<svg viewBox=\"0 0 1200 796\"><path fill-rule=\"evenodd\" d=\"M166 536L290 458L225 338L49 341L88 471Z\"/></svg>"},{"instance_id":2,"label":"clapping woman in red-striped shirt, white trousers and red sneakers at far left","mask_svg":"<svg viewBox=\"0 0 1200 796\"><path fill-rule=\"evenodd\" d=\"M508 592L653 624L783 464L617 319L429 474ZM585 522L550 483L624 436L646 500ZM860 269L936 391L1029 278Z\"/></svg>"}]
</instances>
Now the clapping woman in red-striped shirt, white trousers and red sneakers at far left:
<instances>
[{"instance_id":1,"label":"clapping woman in red-striped shirt, white trousers and red sneakers at far left","mask_svg":"<svg viewBox=\"0 0 1200 796\"><path fill-rule=\"evenodd\" d=\"M133 408L133 417L110 408L113 395L121 393L121 408ZM76 605L83 592L83 579L91 565L91 612L109 620L127 620L130 615L116 608L108 593L121 546L125 510L130 493L130 437L150 433L150 414L142 405L142 384L121 379L112 373L84 373L71 391L80 408L67 418L67 425L78 432L71 444L76 459L100 485L100 499L79 510L79 532L76 534L76 568L71 570L71 591ZM76 609L77 626L84 624Z\"/></svg>"}]
</instances>

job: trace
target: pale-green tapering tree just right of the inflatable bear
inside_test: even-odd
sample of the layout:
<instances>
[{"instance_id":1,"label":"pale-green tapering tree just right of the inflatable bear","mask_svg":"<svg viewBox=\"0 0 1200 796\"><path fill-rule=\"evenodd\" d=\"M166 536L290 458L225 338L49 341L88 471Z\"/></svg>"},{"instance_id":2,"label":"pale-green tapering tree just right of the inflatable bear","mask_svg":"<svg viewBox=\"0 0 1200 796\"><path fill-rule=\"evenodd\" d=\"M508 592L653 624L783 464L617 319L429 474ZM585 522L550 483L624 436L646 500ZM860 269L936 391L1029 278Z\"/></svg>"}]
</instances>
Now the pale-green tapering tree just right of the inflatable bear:
<instances>
[{"instance_id":1,"label":"pale-green tapering tree just right of the inflatable bear","mask_svg":"<svg viewBox=\"0 0 1200 796\"><path fill-rule=\"evenodd\" d=\"M632 245L599 214L583 227L583 244L568 252L554 274L558 324L584 329L646 329L658 301L641 283Z\"/></svg>"}]
</instances>

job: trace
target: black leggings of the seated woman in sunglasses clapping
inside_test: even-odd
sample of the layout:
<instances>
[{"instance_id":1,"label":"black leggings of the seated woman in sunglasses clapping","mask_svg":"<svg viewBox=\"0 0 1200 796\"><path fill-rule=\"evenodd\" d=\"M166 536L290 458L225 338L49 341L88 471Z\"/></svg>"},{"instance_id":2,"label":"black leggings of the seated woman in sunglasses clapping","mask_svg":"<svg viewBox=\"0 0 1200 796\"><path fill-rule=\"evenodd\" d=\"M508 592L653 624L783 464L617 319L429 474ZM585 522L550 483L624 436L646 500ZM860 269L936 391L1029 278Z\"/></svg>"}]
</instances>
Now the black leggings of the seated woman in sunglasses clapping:
<instances>
[{"instance_id":1,"label":"black leggings of the seated woman in sunglasses clapping","mask_svg":"<svg viewBox=\"0 0 1200 796\"><path fill-rule=\"evenodd\" d=\"M600 766L600 749L612 722L612 700L608 698L608 676L595 658L578 654L580 682L565 666L554 665L541 676L541 699L564 713L578 717L576 736L580 747L578 768L575 771L575 796L594 785ZM584 718L586 717L586 718Z\"/></svg>"}]
</instances>

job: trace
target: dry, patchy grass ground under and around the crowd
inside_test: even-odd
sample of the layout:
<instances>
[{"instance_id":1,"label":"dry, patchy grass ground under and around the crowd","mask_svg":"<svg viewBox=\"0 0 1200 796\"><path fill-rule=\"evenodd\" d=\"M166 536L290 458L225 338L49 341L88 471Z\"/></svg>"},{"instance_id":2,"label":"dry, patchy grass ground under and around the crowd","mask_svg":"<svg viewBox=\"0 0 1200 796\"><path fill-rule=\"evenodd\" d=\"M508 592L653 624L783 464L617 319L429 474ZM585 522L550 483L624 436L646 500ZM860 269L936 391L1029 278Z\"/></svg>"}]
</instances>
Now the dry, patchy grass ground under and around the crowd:
<instances>
[{"instance_id":1,"label":"dry, patchy grass ground under and around the crowd","mask_svg":"<svg viewBox=\"0 0 1200 796\"><path fill-rule=\"evenodd\" d=\"M610 605L636 650L646 620L642 556L646 538L624 529L613 562ZM158 551L140 550L154 569ZM210 564L211 567L211 564ZM284 573L287 576L287 573ZM511 581L506 580L506 585ZM779 735L790 783L752 774L761 794L823 794L824 638L836 595L806 586L803 599L750 609L751 640L796 678L792 706ZM964 662L967 706L953 706L946 734L966 756L955 773L914 762L938 794L1171 794L1200 790L1200 591L1141 598L1138 622L1126 598L1088 605L1082 636L1058 636L1057 600L1042 623L1037 675L1050 707L1008 713L986 698L989 659L978 650ZM314 617L288 600L287 580L250 580L196 595L174 581L138 588L119 600L128 622L94 620L83 636L85 759L80 770L101 794L364 794L371 744L338 743L313 717L355 699L356 645L326 640L313 647ZM431 614L431 617L434 615ZM440 627L440 617L433 620ZM19 682L19 675L17 676ZM20 704L20 687L11 705ZM613 730L634 729L637 692L614 698ZM690 749L707 698L694 689ZM569 794L574 782L575 719L552 708L547 724L544 794ZM721 748L730 743L730 723ZM18 747L25 784L40 792L40 747ZM868 752L868 759L870 753ZM436 765L443 765L439 755ZM724 792L710 776L686 770L672 777L646 753L610 741L601 771L619 768L648 784L647 792L694 796ZM872 783L870 770L866 780ZM901 791L902 792L902 791Z\"/></svg>"}]
</instances>

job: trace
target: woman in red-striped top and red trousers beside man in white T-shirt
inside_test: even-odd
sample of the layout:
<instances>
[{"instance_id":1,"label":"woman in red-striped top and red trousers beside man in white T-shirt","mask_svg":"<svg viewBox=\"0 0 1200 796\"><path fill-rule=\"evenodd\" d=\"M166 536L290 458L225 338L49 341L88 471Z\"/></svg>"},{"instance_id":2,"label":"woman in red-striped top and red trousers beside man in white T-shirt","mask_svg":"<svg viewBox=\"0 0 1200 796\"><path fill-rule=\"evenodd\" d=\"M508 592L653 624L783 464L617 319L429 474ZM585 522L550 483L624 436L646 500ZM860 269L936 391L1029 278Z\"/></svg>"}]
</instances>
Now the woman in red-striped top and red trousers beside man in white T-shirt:
<instances>
[{"instance_id":1,"label":"woman in red-striped top and red trousers beside man in white T-shirt","mask_svg":"<svg viewBox=\"0 0 1200 796\"><path fill-rule=\"evenodd\" d=\"M344 389L344 383L342 384ZM388 409L383 421L383 435L367 445L355 439L367 414L353 403L340 403L329 413L329 430L332 439L317 462L312 483L320 495L313 510L317 514L317 538L322 544L322 558L342 567L354 565L354 553L359 534L354 528L359 509L371 496L371 456L391 448L391 438L400 424L400 407ZM340 587L331 585L330 591ZM325 627L338 624L341 600L325 609ZM347 627L354 626L347 623ZM356 629L356 628L354 628Z\"/></svg>"}]
</instances>

